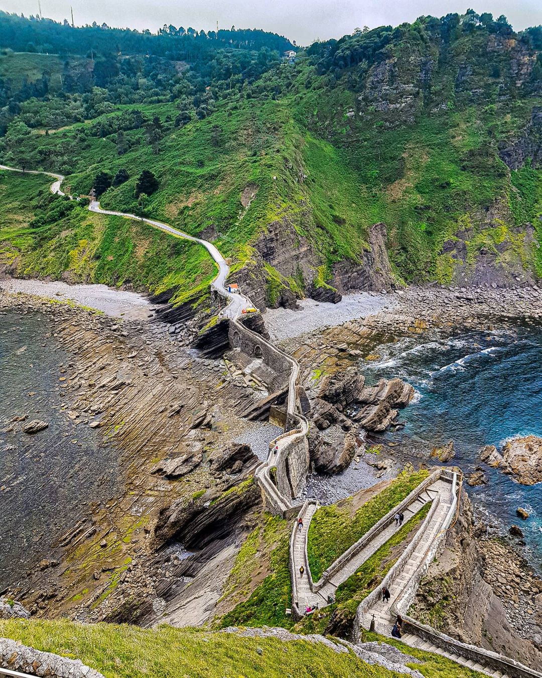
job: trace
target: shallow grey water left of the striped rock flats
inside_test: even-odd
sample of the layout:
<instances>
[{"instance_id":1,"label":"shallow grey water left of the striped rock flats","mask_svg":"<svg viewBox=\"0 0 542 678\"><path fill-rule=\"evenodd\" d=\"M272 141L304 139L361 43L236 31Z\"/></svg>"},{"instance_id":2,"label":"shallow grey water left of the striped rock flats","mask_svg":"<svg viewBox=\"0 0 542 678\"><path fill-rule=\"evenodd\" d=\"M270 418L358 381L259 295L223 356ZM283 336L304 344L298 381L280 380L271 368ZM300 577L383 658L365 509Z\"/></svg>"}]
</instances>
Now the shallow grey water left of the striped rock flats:
<instances>
[{"instance_id":1,"label":"shallow grey water left of the striped rock flats","mask_svg":"<svg viewBox=\"0 0 542 678\"><path fill-rule=\"evenodd\" d=\"M112 496L120 475L114 446L68 416L62 383L74 370L54 324L0 315L0 591L49 555L89 502ZM48 426L24 433L32 420Z\"/></svg>"}]
</instances>

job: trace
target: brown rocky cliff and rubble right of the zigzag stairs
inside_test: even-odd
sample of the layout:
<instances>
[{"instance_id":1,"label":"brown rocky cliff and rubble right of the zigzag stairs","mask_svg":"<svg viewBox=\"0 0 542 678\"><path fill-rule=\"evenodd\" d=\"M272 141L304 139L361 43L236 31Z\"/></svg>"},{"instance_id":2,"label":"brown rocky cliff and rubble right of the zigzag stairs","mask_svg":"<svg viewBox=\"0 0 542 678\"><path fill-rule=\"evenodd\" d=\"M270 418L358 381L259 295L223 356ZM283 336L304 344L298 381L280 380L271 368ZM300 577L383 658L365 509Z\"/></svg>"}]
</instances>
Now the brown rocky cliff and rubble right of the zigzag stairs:
<instances>
[{"instance_id":1,"label":"brown rocky cliff and rubble right of the zigzag stairs","mask_svg":"<svg viewBox=\"0 0 542 678\"><path fill-rule=\"evenodd\" d=\"M409 614L465 643L542 668L542 580L510 546L475 524L463 492L446 551L421 582Z\"/></svg>"}]
</instances>

